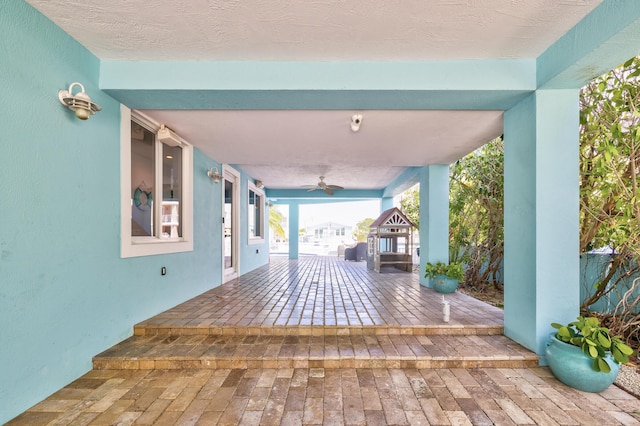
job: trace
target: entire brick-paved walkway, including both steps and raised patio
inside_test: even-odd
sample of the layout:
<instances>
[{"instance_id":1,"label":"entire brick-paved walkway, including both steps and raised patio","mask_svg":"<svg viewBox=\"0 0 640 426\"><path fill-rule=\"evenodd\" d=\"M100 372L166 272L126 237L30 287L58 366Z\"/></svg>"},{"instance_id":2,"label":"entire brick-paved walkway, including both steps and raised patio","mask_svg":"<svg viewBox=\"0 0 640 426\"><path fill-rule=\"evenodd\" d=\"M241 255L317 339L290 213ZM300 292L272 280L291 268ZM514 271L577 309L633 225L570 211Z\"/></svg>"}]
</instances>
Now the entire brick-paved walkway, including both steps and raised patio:
<instances>
[{"instance_id":1,"label":"entire brick-paved walkway, including both steps and raised patio","mask_svg":"<svg viewBox=\"0 0 640 426\"><path fill-rule=\"evenodd\" d=\"M10 425L634 425L640 401L558 382L502 311L407 273L274 258L144 321Z\"/></svg>"}]
</instances>

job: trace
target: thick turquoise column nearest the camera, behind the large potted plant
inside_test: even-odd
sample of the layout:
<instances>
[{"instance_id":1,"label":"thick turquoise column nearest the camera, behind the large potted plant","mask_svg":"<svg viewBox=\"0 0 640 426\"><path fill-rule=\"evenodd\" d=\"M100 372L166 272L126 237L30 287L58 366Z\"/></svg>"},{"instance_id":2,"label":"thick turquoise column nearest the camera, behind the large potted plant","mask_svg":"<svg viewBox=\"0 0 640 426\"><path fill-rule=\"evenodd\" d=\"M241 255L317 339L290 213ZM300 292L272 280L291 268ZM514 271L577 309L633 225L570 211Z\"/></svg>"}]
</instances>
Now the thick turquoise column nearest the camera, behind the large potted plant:
<instances>
[{"instance_id":1,"label":"thick turquoise column nearest the camera, behind the large potted plant","mask_svg":"<svg viewBox=\"0 0 640 426\"><path fill-rule=\"evenodd\" d=\"M538 355L579 312L578 100L538 90L504 116L505 335Z\"/></svg>"}]
</instances>

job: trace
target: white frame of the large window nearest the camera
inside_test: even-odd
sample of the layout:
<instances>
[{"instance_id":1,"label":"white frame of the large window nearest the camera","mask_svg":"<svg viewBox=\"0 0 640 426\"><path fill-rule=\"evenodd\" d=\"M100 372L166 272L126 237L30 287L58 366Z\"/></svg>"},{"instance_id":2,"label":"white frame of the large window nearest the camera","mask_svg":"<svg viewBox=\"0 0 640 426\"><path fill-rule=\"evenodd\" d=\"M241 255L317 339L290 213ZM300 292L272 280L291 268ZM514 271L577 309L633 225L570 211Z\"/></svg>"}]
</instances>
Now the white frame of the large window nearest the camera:
<instances>
[{"instance_id":1,"label":"white frame of the large window nearest the camera","mask_svg":"<svg viewBox=\"0 0 640 426\"><path fill-rule=\"evenodd\" d=\"M152 256L193 251L193 147L183 141L182 147L182 236L178 239L134 237L131 235L131 121L153 133L160 124L139 111L120 105L120 257ZM159 142L156 140L156 144ZM156 164L162 155L156 151ZM162 200L162 167L156 167L154 200ZM160 185L158 185L160 182ZM156 214L156 213L154 213ZM154 221L155 223L155 221ZM154 225L158 226L158 225Z\"/></svg>"}]
</instances>

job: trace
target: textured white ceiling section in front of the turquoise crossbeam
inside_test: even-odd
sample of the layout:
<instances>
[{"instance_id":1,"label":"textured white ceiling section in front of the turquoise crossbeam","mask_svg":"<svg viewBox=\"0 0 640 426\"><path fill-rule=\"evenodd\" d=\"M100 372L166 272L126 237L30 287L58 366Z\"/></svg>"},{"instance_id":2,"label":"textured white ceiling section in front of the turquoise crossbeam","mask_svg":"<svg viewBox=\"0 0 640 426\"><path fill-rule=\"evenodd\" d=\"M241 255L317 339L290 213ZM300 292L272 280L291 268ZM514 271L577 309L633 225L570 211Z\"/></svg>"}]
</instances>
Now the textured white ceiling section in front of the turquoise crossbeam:
<instances>
[{"instance_id":1,"label":"textured white ceiling section in front of the turquoise crossbeam","mask_svg":"<svg viewBox=\"0 0 640 426\"><path fill-rule=\"evenodd\" d=\"M536 58L601 0L27 0L101 59Z\"/></svg>"}]
</instances>

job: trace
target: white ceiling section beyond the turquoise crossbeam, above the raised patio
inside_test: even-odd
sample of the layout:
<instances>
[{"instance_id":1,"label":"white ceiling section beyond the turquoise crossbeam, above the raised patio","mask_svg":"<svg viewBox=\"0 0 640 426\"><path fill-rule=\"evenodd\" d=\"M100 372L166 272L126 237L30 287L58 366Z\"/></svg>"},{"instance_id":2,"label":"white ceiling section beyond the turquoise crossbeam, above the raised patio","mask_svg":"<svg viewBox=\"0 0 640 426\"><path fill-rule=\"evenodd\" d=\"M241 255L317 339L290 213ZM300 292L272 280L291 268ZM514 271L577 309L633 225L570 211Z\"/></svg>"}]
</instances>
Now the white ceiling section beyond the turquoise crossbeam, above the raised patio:
<instances>
[{"instance_id":1,"label":"white ceiling section beyond the turquoise crossbeam, above the raised patio","mask_svg":"<svg viewBox=\"0 0 640 426\"><path fill-rule=\"evenodd\" d=\"M449 164L502 132L502 111L143 111L267 188L318 176L382 189L407 166ZM363 116L351 130L354 113Z\"/></svg>"}]
</instances>

